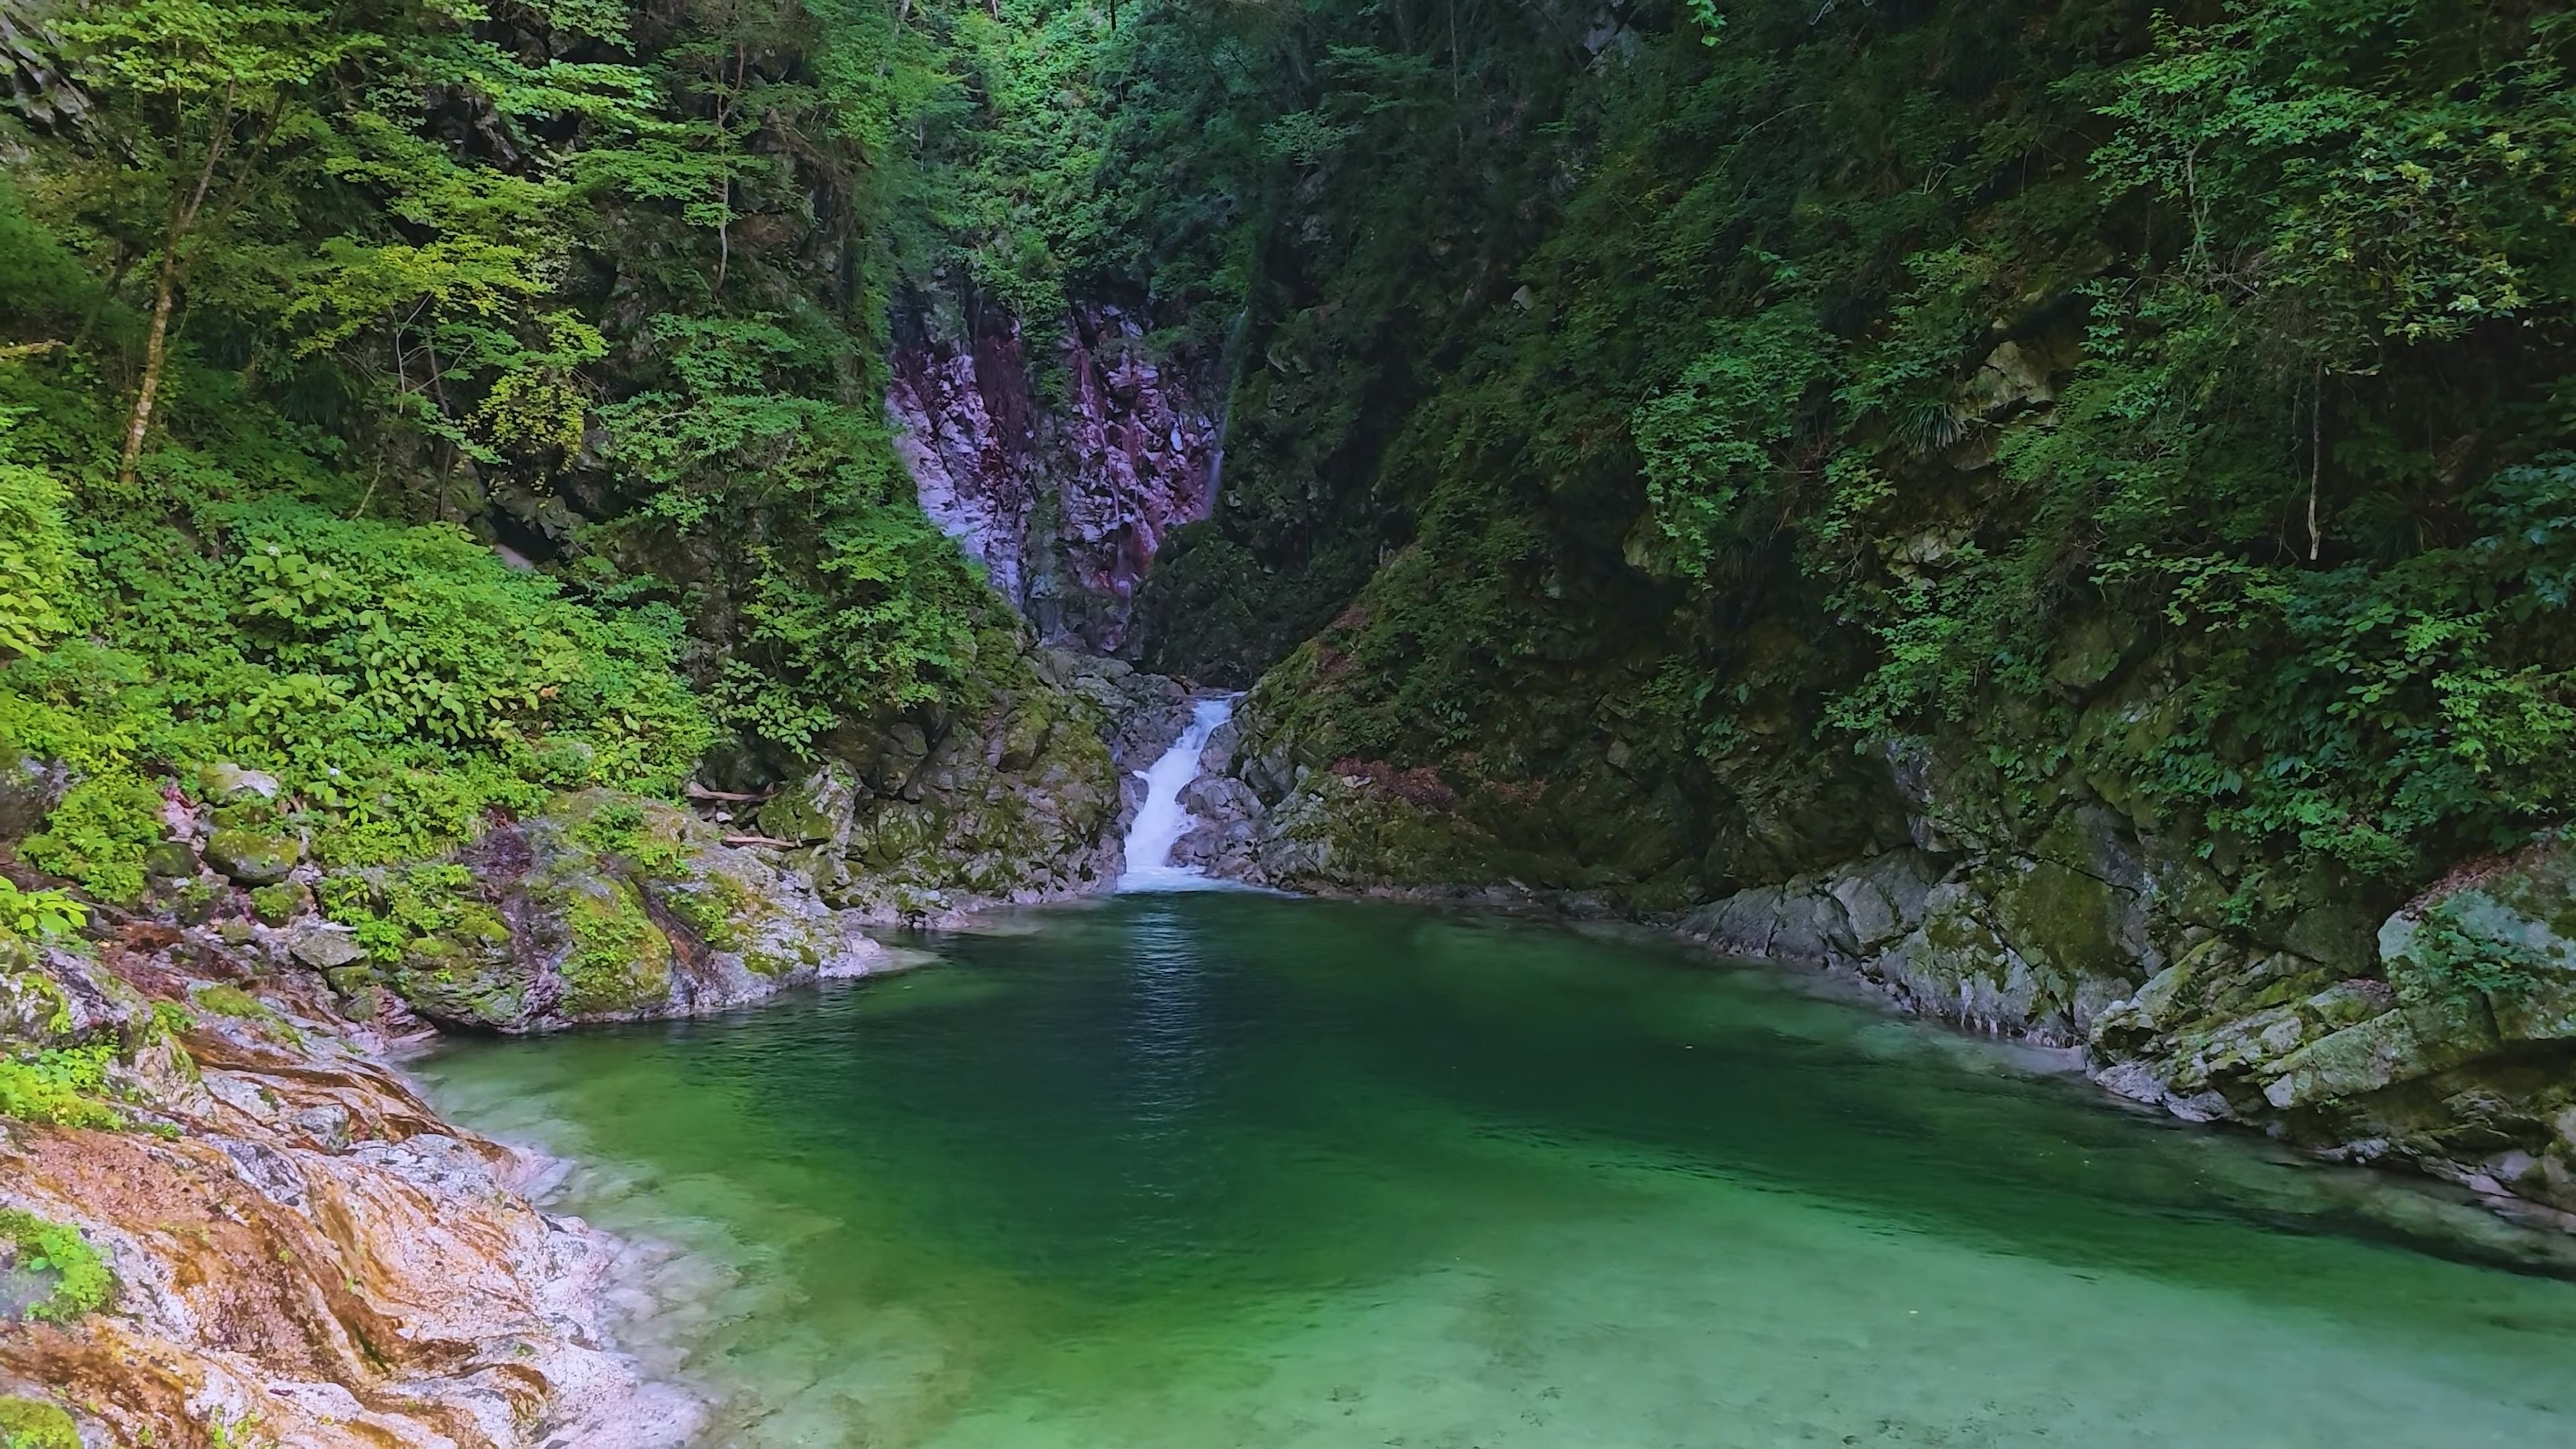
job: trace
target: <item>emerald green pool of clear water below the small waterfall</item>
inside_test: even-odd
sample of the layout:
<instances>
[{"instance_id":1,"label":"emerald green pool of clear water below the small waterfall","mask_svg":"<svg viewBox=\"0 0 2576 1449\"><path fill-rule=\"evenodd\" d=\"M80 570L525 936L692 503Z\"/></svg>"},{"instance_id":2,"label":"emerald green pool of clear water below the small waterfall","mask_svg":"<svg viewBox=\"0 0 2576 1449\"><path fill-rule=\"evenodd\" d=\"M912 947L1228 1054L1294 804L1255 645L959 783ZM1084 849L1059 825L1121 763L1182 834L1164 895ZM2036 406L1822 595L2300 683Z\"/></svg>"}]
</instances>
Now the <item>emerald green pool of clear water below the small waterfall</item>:
<instances>
[{"instance_id":1,"label":"emerald green pool of clear water below the small waterfall","mask_svg":"<svg viewBox=\"0 0 2576 1449\"><path fill-rule=\"evenodd\" d=\"M690 1250L711 1444L2576 1444L2563 1243L1795 977L1224 892L935 949L420 1067Z\"/></svg>"}]
</instances>

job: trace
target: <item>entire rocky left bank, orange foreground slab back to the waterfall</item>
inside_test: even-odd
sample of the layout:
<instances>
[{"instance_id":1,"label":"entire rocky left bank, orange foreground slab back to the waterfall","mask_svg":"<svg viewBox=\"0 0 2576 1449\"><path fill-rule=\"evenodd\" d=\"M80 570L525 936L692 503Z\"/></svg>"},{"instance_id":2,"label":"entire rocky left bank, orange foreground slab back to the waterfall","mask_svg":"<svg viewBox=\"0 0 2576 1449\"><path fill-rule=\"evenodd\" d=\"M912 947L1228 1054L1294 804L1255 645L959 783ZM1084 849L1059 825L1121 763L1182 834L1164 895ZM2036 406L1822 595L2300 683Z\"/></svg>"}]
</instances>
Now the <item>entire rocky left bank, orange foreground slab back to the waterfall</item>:
<instances>
[{"instance_id":1,"label":"entire rocky left bank, orange foreground slab back to the waterfall","mask_svg":"<svg viewBox=\"0 0 2576 1449\"><path fill-rule=\"evenodd\" d=\"M894 972L866 928L1115 879L1144 792L1113 771L1188 696L1041 663L1043 699L884 768L693 784L690 807L577 789L386 866L314 861L273 776L209 768L165 789L121 905L10 851L70 771L0 776L0 1426L39 1449L688 1441L703 1405L613 1346L672 1307L659 1250L549 1212L559 1165L446 1122L394 1062Z\"/></svg>"}]
</instances>

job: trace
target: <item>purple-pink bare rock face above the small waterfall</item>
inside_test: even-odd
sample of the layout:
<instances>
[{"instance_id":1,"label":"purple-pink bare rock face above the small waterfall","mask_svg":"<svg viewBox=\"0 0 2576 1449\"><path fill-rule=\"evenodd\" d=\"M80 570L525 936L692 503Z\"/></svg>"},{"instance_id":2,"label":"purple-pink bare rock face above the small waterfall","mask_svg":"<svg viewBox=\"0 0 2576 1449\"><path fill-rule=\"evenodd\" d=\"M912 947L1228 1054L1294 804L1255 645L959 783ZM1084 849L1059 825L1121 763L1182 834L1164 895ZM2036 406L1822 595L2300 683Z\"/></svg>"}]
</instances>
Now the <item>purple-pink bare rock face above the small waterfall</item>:
<instances>
[{"instance_id":1,"label":"purple-pink bare rock face above the small waterfall","mask_svg":"<svg viewBox=\"0 0 2576 1449\"><path fill-rule=\"evenodd\" d=\"M886 410L922 511L1048 642L1115 650L1164 536L1216 495L1216 382L1157 361L1139 317L1079 307L1041 400L1015 320L894 348Z\"/></svg>"}]
</instances>

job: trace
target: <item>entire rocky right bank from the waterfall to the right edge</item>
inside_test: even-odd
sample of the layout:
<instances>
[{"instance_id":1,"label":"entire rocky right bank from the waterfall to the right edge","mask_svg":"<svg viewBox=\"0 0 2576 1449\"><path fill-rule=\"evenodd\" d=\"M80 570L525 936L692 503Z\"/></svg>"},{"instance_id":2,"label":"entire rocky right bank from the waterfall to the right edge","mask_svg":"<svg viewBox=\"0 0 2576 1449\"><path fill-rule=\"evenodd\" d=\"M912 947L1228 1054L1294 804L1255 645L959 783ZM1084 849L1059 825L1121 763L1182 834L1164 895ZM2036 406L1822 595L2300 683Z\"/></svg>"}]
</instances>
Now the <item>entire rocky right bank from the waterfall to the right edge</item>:
<instances>
[{"instance_id":1,"label":"entire rocky right bank from the waterfall to the right edge","mask_svg":"<svg viewBox=\"0 0 2576 1449\"><path fill-rule=\"evenodd\" d=\"M2074 1052L2105 1091L2177 1119L2576 1230L2576 846L2555 833L2372 915L2331 877L2223 861L2226 877L2200 843L2081 792L2012 815L1958 761L1891 753L1899 843L1651 900L1587 861L1579 828L1540 820L1558 784L1334 758L1293 676L1211 735L1175 859L1301 892L1638 920L1824 969L1971 1034Z\"/></svg>"}]
</instances>

